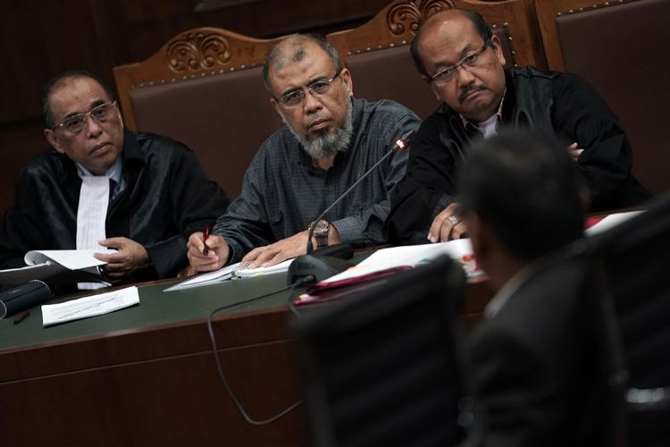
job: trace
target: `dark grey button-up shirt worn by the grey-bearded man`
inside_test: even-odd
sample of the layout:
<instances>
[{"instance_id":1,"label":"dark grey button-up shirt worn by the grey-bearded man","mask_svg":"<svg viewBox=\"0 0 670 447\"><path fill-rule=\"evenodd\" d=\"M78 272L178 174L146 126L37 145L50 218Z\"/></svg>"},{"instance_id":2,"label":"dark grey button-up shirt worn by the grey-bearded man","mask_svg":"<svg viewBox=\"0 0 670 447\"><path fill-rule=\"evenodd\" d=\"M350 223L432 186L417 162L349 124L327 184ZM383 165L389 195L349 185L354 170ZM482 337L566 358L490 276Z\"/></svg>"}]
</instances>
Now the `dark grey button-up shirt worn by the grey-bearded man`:
<instances>
[{"instance_id":1,"label":"dark grey button-up shirt worn by the grey-bearded man","mask_svg":"<svg viewBox=\"0 0 670 447\"><path fill-rule=\"evenodd\" d=\"M352 101L351 143L328 171L314 166L286 126L264 142L245 173L239 198L214 226L213 233L230 246L229 262L306 230L403 133L419 126L416 115L398 103ZM325 215L342 242L364 246L385 241L381 228L389 215L389 191L405 174L406 161L406 150L389 157Z\"/></svg>"}]
</instances>

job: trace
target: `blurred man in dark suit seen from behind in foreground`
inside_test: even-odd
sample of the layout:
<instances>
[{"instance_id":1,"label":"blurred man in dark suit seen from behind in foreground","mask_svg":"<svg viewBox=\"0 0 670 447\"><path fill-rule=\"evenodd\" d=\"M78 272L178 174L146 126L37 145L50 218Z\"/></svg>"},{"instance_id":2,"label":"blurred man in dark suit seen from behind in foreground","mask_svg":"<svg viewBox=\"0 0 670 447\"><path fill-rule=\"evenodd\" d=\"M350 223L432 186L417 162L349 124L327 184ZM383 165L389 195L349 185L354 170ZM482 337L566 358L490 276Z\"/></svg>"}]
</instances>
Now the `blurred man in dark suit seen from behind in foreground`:
<instances>
[{"instance_id":1,"label":"blurred man in dark suit seen from behind in foreground","mask_svg":"<svg viewBox=\"0 0 670 447\"><path fill-rule=\"evenodd\" d=\"M565 146L529 131L474 145L461 172L458 213L498 291L466 350L471 444L603 445L597 274L568 249L582 238L578 176Z\"/></svg>"}]
</instances>

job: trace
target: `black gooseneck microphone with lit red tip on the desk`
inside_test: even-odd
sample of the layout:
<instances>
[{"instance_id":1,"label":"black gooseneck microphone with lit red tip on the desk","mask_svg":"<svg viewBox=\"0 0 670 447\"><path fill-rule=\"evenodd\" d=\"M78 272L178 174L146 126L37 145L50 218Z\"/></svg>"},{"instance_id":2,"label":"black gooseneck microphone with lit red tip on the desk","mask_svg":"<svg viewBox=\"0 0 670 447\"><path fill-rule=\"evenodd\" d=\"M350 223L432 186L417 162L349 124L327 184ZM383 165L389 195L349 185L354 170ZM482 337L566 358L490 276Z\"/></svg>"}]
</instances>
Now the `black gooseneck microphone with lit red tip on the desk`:
<instances>
[{"instance_id":1,"label":"black gooseneck microphone with lit red tip on the desk","mask_svg":"<svg viewBox=\"0 0 670 447\"><path fill-rule=\"evenodd\" d=\"M407 148L409 144L409 139L412 137L412 135L415 133L415 131L406 131L398 140L396 140L396 144L393 145L393 148L389 150L384 156L382 156L377 163L373 164L373 166L365 171L365 173L358 178L346 191L344 191L339 198L337 198L334 202L332 202L330 207L327 207L326 209L323 210L322 214L320 214L312 223L309 225L309 232L307 233L307 248L306 248L306 255L302 255L299 257L296 257L296 259L290 264L289 266L289 275L287 278L287 283L292 284L295 283L297 280L303 279L306 276L312 275L314 277L313 283L317 283L319 281L322 281L326 278L330 278L333 274L339 274L340 272L345 271L348 269L348 267L352 266L351 263L345 261L344 259L340 259L338 257L331 257L331 256L325 256L322 253L322 250L328 252L328 253L336 253L339 252L341 254L345 254L344 257L352 257L354 252L353 249L351 249L350 246L347 246L346 244L337 244L331 247L324 247L322 249L317 249L314 250L314 247L312 245L312 238L314 237L314 227L316 226L316 223L318 223L324 215L326 215L333 207L335 207L337 204L339 204L340 201L342 201L343 198L346 198L348 194L360 184L361 181L364 181L364 179L370 175L371 173L374 172L377 167L382 164L389 156L393 156L396 152L403 150Z\"/></svg>"}]
</instances>

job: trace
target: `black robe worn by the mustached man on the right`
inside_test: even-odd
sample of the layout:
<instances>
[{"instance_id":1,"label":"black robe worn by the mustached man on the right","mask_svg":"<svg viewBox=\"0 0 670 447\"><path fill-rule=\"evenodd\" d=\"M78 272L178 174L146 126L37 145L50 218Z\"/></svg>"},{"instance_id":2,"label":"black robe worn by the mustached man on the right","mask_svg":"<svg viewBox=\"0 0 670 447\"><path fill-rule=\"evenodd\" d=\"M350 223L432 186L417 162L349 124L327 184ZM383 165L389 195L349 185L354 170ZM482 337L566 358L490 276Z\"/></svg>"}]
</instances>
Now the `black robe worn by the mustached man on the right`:
<instances>
[{"instance_id":1,"label":"black robe worn by the mustached man on the right","mask_svg":"<svg viewBox=\"0 0 670 447\"><path fill-rule=\"evenodd\" d=\"M590 190L591 211L631 207L650 197L632 176L624 130L586 82L572 74L525 67L506 70L506 84L501 126L551 131L566 148L577 142L584 149L577 165ZM432 220L456 201L458 171L470 142L479 138L476 126L466 129L447 105L423 122L409 149L406 177L391 195L385 227L389 241L428 242Z\"/></svg>"}]
</instances>

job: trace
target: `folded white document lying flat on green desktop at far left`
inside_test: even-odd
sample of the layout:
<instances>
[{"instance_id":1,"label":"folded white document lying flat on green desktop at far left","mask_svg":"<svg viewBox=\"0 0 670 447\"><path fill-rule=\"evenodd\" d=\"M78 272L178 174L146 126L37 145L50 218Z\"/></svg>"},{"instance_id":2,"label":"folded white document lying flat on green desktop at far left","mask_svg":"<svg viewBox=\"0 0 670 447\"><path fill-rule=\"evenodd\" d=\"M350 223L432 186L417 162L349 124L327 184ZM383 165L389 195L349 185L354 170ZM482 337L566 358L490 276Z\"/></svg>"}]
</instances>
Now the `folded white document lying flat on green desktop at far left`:
<instances>
[{"instance_id":1,"label":"folded white document lying flat on green desktop at far left","mask_svg":"<svg viewBox=\"0 0 670 447\"><path fill-rule=\"evenodd\" d=\"M42 306L42 325L47 327L89 316L104 315L136 304L139 304L139 294L138 288L134 286L71 299L59 304L46 304Z\"/></svg>"}]
</instances>

